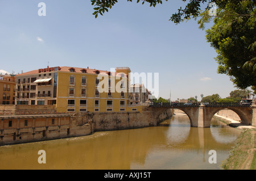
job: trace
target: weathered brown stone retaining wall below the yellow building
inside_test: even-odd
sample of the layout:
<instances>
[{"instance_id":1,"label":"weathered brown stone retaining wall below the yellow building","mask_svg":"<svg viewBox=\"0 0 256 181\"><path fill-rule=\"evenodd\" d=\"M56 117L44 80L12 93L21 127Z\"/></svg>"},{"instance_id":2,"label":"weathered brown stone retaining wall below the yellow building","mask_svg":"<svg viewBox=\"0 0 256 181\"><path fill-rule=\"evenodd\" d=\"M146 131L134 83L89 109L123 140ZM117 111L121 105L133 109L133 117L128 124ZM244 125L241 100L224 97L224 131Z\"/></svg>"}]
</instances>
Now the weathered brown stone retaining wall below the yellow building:
<instances>
[{"instance_id":1,"label":"weathered brown stone retaining wall below the yellow building","mask_svg":"<svg viewBox=\"0 0 256 181\"><path fill-rule=\"evenodd\" d=\"M171 109L144 106L133 112L44 113L0 116L0 146L86 136L97 131L156 126L170 118Z\"/></svg>"}]
</instances>

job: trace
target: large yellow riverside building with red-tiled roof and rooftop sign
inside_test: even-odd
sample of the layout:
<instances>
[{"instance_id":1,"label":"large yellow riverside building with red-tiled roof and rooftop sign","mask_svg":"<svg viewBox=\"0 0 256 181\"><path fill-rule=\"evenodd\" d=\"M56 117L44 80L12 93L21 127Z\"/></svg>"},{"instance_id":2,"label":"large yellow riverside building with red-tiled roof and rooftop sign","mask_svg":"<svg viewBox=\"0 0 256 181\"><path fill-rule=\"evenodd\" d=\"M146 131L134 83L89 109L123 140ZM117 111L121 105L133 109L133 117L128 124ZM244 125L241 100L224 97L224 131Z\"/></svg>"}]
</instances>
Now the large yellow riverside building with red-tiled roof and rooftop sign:
<instances>
[{"instance_id":1,"label":"large yellow riverside building with red-tiled roof and rooftop sign","mask_svg":"<svg viewBox=\"0 0 256 181\"><path fill-rule=\"evenodd\" d=\"M130 71L67 66L28 71L17 75L16 104L56 105L57 112L141 111L129 106Z\"/></svg>"}]
</instances>

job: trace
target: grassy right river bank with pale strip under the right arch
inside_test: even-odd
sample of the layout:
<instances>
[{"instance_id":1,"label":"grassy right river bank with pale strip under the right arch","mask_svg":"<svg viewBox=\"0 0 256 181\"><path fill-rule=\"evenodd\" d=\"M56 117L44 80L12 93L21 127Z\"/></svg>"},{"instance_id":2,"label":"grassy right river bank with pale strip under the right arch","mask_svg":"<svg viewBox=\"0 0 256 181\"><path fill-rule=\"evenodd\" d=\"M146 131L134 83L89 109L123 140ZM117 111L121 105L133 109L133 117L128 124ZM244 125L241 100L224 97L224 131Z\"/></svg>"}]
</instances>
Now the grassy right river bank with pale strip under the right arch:
<instances>
[{"instance_id":1,"label":"grassy right river bank with pale strip under the right arch","mask_svg":"<svg viewBox=\"0 0 256 181\"><path fill-rule=\"evenodd\" d=\"M236 146L230 151L229 158L222 163L225 170L256 170L256 128L241 125L240 121L229 117L214 115L218 120L235 129L241 129Z\"/></svg>"}]
</instances>

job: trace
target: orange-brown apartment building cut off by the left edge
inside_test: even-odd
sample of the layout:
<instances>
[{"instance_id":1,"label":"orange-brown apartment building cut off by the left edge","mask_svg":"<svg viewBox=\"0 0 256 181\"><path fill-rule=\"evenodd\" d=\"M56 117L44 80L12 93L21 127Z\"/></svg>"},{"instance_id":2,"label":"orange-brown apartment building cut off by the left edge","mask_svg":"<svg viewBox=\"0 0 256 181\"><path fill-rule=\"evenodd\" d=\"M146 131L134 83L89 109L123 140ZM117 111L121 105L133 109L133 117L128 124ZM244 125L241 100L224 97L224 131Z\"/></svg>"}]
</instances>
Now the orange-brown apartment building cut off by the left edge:
<instances>
[{"instance_id":1,"label":"orange-brown apartment building cut off by the left edge","mask_svg":"<svg viewBox=\"0 0 256 181\"><path fill-rule=\"evenodd\" d=\"M15 104L15 75L0 76L0 104Z\"/></svg>"}]
</instances>

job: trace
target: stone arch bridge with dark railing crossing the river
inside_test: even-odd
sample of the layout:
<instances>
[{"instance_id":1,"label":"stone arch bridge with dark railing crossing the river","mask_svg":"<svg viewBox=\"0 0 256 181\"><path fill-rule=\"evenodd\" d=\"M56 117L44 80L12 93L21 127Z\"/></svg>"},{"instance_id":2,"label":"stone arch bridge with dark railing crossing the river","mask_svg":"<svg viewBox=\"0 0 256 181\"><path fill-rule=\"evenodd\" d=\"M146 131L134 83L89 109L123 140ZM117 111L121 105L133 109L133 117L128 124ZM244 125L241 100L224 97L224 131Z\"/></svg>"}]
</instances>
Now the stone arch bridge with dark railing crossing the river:
<instances>
[{"instance_id":1,"label":"stone arch bridge with dark railing crossing the river","mask_svg":"<svg viewBox=\"0 0 256 181\"><path fill-rule=\"evenodd\" d=\"M170 108L177 108L184 111L190 120L191 127L210 127L210 121L215 113L228 108L237 113L243 125L256 126L256 105L240 105L236 103L215 103L215 104L172 104L172 103L153 103L150 106L156 112L164 112ZM157 115L156 115L157 116Z\"/></svg>"}]
</instances>

